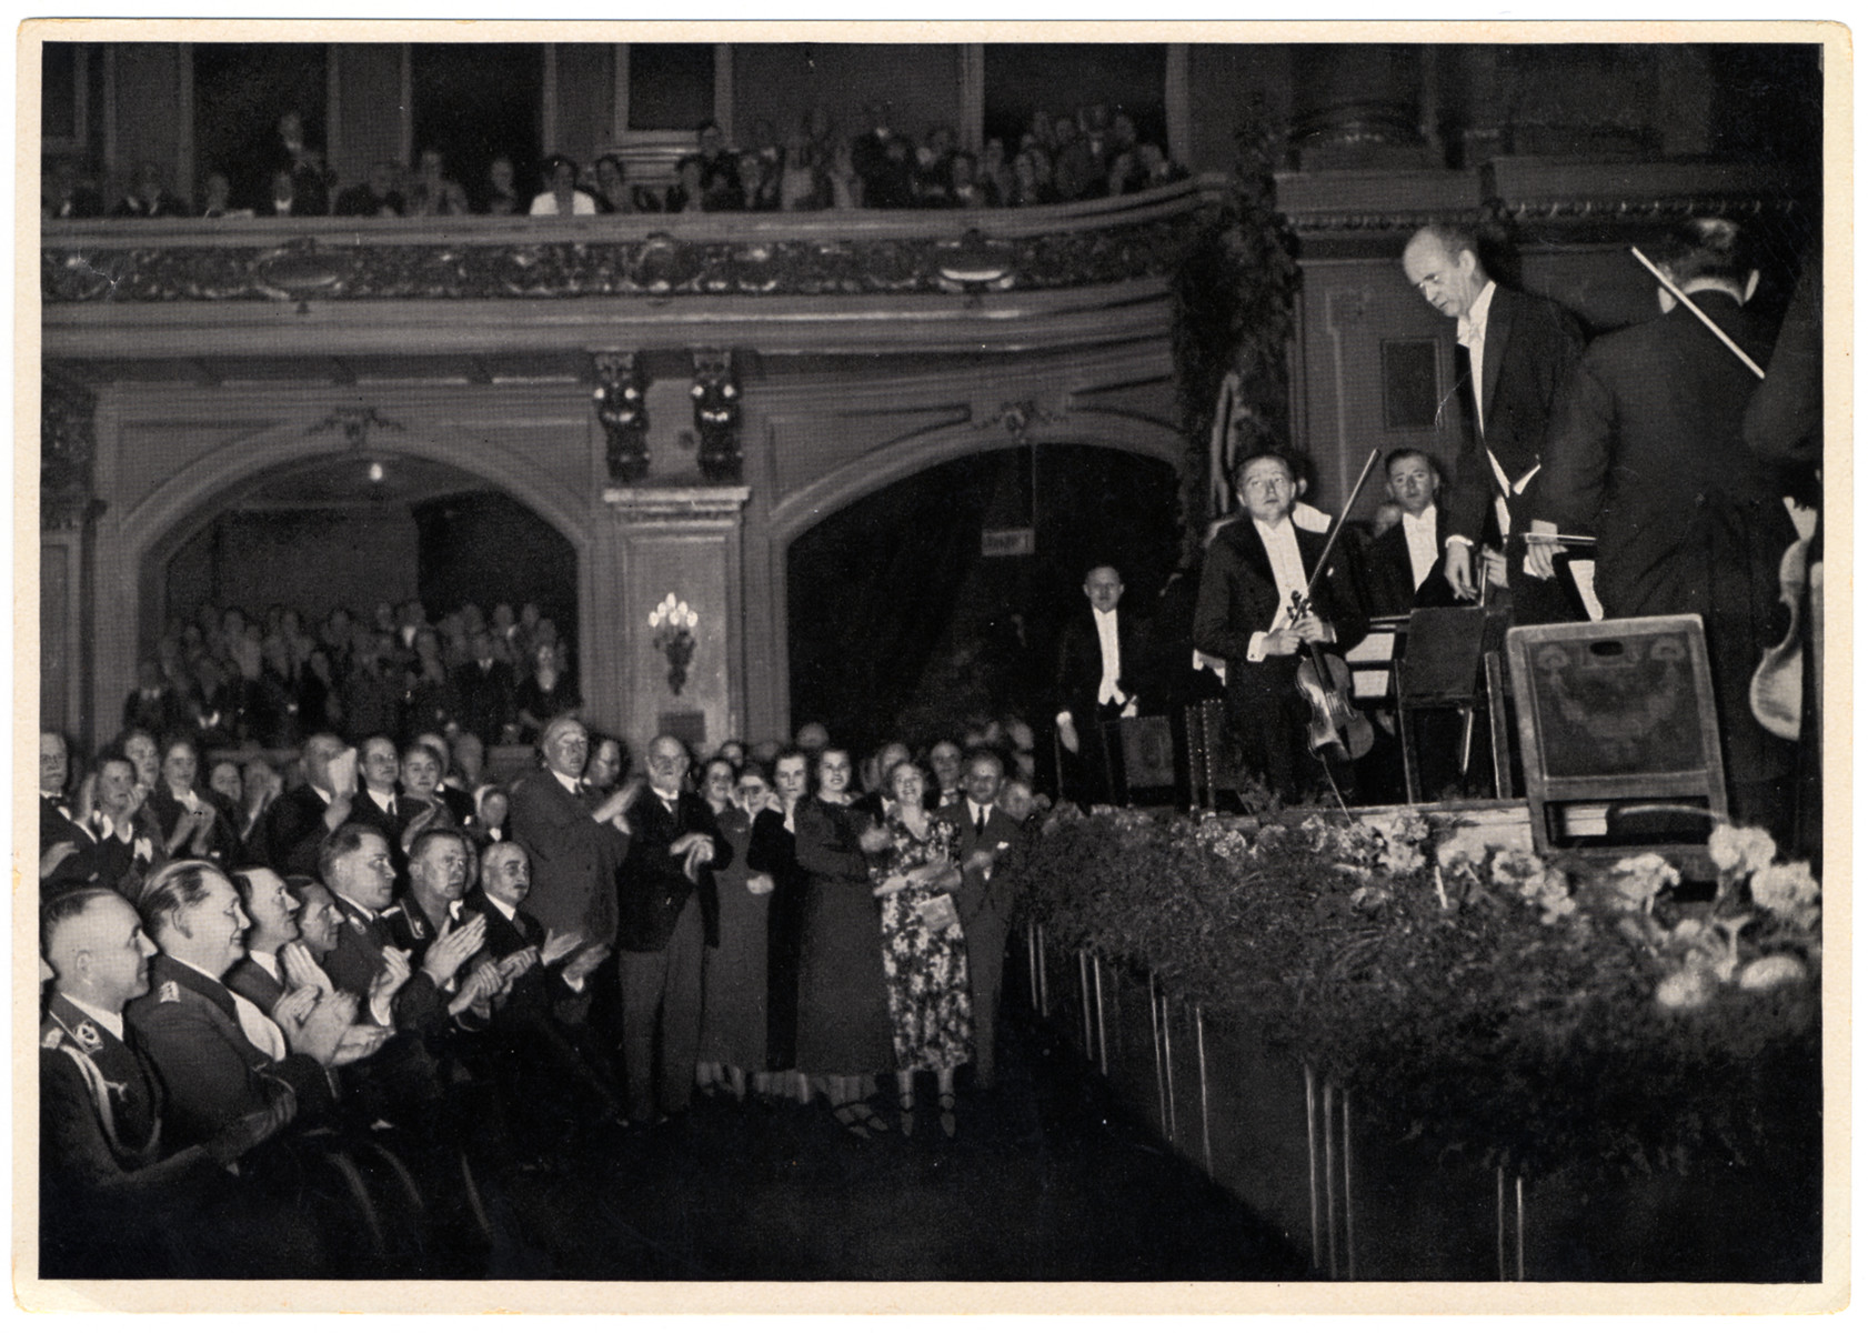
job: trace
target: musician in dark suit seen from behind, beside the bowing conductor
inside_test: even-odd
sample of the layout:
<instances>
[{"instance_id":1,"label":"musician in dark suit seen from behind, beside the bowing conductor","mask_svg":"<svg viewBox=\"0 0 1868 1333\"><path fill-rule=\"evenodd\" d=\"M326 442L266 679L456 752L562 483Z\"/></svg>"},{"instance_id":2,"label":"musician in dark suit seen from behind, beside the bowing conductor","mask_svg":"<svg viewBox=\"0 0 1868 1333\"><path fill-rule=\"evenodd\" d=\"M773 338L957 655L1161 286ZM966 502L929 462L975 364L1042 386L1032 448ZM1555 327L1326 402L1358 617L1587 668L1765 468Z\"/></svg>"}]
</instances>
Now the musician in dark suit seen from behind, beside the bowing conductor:
<instances>
[{"instance_id":1,"label":"musician in dark suit seen from behind, beside the bowing conductor","mask_svg":"<svg viewBox=\"0 0 1868 1333\"><path fill-rule=\"evenodd\" d=\"M1692 219L1657 262L1754 361L1767 357L1745 310L1758 269L1737 224ZM1535 518L1549 533L1595 533L1606 617L1696 613L1705 623L1734 813L1784 838L1795 748L1752 716L1750 677L1784 630L1778 563L1797 537L1782 503L1791 479L1745 447L1758 378L1670 292L1657 295L1659 320L1612 333L1582 357L1550 426Z\"/></svg>"}]
</instances>

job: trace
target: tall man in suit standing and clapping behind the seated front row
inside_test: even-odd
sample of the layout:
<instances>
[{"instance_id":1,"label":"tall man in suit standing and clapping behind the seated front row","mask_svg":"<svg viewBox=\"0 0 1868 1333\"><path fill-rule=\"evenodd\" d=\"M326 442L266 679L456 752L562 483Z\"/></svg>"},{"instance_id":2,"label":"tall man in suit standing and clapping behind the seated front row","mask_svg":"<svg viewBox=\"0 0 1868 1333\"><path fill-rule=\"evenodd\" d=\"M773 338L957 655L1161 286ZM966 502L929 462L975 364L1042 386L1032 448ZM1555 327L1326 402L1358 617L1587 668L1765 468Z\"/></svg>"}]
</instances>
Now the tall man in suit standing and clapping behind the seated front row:
<instances>
[{"instance_id":1,"label":"tall man in suit standing and clapping behind the seated front row","mask_svg":"<svg viewBox=\"0 0 1868 1333\"><path fill-rule=\"evenodd\" d=\"M585 789L590 733L573 718L553 718L538 742L544 768L519 778L508 798L506 830L532 858L527 910L545 929L616 942L616 867L628 834L616 826L633 793L601 804Z\"/></svg>"}]
</instances>

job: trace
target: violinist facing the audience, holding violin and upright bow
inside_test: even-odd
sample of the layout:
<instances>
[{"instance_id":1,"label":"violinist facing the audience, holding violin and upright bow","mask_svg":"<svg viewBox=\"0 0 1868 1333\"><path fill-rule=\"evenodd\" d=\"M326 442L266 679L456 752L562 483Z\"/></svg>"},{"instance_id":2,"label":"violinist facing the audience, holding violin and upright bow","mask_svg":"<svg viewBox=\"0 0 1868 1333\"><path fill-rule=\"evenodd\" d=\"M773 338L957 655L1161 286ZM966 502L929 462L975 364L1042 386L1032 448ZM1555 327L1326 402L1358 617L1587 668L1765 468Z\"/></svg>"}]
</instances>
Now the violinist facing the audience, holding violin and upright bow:
<instances>
[{"instance_id":1,"label":"violinist facing the audience, holding violin and upright bow","mask_svg":"<svg viewBox=\"0 0 1868 1333\"><path fill-rule=\"evenodd\" d=\"M1225 660L1225 714L1248 772L1287 800L1326 780L1347 795L1351 767L1330 757L1330 746L1313 752L1298 667L1311 662L1311 645L1339 654L1367 632L1347 566L1352 555L1337 548L1311 587L1328 540L1291 522L1296 482L1281 454L1248 454L1233 482L1246 512L1207 550L1194 647ZM1306 591L1308 611L1295 615Z\"/></svg>"}]
</instances>

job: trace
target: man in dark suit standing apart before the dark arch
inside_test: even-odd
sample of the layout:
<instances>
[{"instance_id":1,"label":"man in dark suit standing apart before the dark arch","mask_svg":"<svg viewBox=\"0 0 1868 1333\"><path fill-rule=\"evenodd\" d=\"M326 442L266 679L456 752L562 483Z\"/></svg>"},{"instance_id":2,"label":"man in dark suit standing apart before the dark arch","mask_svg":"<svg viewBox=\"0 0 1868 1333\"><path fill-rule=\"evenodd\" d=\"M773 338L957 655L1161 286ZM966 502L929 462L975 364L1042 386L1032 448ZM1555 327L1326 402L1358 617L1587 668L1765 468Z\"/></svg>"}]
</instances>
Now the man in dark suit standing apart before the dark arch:
<instances>
[{"instance_id":1,"label":"man in dark suit standing apart before the dark arch","mask_svg":"<svg viewBox=\"0 0 1868 1333\"><path fill-rule=\"evenodd\" d=\"M1121 613L1123 576L1098 565L1083 576L1089 611L1076 613L1057 645L1057 744L1065 759L1067 795L1083 804L1117 800L1123 791L1123 750L1110 744L1110 724L1139 714L1138 664L1147 634Z\"/></svg>"}]
</instances>

